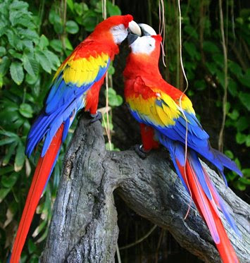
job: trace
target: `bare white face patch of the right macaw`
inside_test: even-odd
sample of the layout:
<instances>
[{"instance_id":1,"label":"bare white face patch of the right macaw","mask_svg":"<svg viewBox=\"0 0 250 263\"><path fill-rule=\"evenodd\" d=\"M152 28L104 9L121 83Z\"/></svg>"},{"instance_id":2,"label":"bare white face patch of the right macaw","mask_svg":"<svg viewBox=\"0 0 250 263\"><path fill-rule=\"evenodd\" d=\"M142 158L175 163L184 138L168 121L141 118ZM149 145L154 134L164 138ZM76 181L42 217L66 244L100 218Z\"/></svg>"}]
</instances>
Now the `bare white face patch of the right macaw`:
<instances>
[{"instance_id":1,"label":"bare white face patch of the right macaw","mask_svg":"<svg viewBox=\"0 0 250 263\"><path fill-rule=\"evenodd\" d=\"M156 47L156 40L151 36L137 37L130 45L132 53L151 54Z\"/></svg>"}]
</instances>

